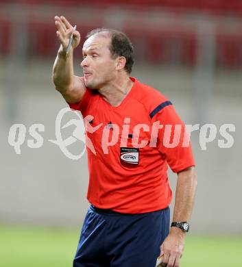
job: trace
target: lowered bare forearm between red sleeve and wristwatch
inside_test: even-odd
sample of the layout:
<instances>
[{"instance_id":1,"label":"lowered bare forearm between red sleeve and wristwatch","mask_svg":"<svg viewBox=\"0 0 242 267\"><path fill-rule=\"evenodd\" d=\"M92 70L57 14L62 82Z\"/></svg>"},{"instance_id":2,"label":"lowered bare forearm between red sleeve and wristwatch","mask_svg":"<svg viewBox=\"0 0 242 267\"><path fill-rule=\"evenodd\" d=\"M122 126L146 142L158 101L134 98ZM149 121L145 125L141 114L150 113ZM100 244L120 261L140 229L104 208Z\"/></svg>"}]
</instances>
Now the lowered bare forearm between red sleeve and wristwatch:
<instances>
[{"instance_id":1,"label":"lowered bare forearm between red sleeve and wristwatch","mask_svg":"<svg viewBox=\"0 0 242 267\"><path fill-rule=\"evenodd\" d=\"M189 221L193 209L196 189L197 175L195 174L193 167L178 173L173 221Z\"/></svg>"}]
</instances>

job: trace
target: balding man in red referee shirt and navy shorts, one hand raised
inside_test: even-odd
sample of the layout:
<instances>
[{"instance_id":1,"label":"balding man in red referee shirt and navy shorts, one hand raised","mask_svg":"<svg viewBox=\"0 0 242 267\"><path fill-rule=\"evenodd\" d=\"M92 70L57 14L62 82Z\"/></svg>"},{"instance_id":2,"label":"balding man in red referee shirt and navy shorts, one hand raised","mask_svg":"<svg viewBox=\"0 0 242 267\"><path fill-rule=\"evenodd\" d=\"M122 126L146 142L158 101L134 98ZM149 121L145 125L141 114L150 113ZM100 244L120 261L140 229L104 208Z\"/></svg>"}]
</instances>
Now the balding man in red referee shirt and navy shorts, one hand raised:
<instances>
[{"instance_id":1,"label":"balding man in red referee shirt and navy shorts, one hand raised","mask_svg":"<svg viewBox=\"0 0 242 267\"><path fill-rule=\"evenodd\" d=\"M125 34L91 31L78 77L73 49L80 33L63 16L55 20L61 45L53 82L73 110L90 116L86 135L93 144L87 149L91 205L73 266L154 267L164 254L163 262L177 267L197 187L184 123L162 94L130 77L133 47ZM171 228L167 164L178 173Z\"/></svg>"}]
</instances>

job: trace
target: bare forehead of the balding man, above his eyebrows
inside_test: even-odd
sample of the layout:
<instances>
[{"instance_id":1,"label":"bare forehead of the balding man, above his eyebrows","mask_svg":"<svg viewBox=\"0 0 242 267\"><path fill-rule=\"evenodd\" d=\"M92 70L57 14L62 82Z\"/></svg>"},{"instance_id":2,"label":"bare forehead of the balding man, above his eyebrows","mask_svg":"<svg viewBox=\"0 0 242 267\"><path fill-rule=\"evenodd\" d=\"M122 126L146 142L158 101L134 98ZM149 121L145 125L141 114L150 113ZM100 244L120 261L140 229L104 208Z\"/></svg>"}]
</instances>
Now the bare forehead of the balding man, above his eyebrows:
<instances>
[{"instance_id":1,"label":"bare forehead of the balding man, above his eyebrows","mask_svg":"<svg viewBox=\"0 0 242 267\"><path fill-rule=\"evenodd\" d=\"M83 44L82 51L88 52L91 50L105 50L109 49L110 46L110 37L104 36L101 34L95 34L90 36Z\"/></svg>"}]
</instances>

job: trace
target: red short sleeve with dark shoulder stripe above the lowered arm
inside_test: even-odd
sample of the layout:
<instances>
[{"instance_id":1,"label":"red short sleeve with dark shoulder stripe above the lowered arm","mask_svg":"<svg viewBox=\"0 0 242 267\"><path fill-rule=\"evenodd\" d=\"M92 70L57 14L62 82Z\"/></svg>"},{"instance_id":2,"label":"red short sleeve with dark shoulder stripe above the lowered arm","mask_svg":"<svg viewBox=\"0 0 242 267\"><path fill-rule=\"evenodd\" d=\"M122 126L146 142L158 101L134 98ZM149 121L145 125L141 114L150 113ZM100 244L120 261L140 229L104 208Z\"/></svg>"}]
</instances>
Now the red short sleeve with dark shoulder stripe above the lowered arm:
<instances>
[{"instance_id":1,"label":"red short sleeve with dark shoulder stripe above the lowered arm","mask_svg":"<svg viewBox=\"0 0 242 267\"><path fill-rule=\"evenodd\" d=\"M191 142L186 133L186 126L176 113L170 101L160 105L158 112L153 114L152 121L162 125L158 131L158 150L167 160L171 170L179 173L185 168L195 166Z\"/></svg>"}]
</instances>

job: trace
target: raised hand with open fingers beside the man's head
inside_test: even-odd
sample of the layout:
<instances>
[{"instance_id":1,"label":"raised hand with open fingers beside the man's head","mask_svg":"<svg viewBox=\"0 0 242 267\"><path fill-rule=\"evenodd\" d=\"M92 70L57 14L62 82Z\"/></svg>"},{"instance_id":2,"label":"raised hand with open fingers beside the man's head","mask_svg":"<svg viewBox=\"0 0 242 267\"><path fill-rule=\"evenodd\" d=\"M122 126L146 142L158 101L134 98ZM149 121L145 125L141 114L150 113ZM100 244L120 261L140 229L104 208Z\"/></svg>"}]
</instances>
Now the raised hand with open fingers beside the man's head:
<instances>
[{"instance_id":1,"label":"raised hand with open fingers beside the man's head","mask_svg":"<svg viewBox=\"0 0 242 267\"><path fill-rule=\"evenodd\" d=\"M55 21L56 28L58 29L58 31L56 31L56 35L61 44L61 51L64 53L66 52L71 34L73 34L72 47L73 49L77 47L81 40L80 32L77 30L73 31L72 25L66 20L66 18L64 18L64 16L55 16Z\"/></svg>"}]
</instances>

